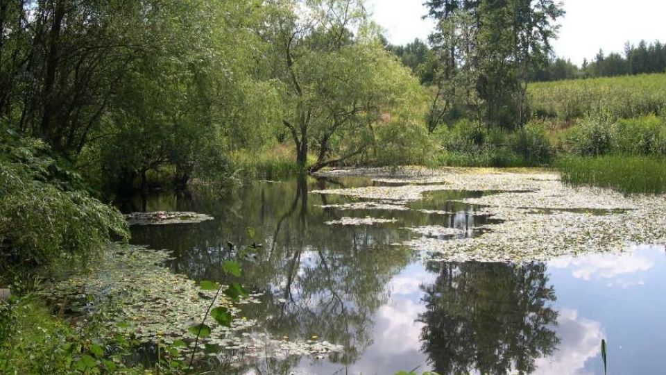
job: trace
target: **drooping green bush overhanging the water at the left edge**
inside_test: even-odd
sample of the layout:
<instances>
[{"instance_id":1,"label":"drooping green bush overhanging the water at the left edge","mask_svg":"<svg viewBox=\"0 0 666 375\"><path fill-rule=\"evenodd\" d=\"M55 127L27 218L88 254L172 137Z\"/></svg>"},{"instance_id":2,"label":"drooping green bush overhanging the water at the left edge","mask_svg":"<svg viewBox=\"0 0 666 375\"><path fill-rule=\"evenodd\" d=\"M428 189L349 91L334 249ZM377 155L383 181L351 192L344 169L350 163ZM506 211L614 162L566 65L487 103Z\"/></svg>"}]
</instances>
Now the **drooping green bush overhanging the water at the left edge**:
<instances>
[{"instance_id":1,"label":"drooping green bush overhanging the water at the left edge","mask_svg":"<svg viewBox=\"0 0 666 375\"><path fill-rule=\"evenodd\" d=\"M91 197L80 177L43 142L0 133L3 266L81 259L112 238L128 237L119 211Z\"/></svg>"}]
</instances>

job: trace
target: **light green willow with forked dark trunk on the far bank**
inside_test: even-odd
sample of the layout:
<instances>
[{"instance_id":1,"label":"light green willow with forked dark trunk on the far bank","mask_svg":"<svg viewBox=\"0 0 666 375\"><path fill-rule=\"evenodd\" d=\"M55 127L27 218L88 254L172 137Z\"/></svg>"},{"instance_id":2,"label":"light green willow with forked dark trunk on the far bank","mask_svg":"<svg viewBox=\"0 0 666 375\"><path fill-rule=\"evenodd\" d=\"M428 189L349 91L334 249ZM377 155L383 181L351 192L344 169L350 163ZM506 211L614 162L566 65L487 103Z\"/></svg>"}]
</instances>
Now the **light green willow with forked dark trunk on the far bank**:
<instances>
[{"instance_id":1,"label":"light green willow with forked dark trunk on the far bank","mask_svg":"<svg viewBox=\"0 0 666 375\"><path fill-rule=\"evenodd\" d=\"M272 42L282 92L282 124L302 169L364 153L373 125L418 90L382 48L359 0L274 1ZM308 165L309 151L316 161Z\"/></svg>"}]
</instances>

